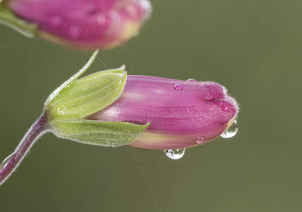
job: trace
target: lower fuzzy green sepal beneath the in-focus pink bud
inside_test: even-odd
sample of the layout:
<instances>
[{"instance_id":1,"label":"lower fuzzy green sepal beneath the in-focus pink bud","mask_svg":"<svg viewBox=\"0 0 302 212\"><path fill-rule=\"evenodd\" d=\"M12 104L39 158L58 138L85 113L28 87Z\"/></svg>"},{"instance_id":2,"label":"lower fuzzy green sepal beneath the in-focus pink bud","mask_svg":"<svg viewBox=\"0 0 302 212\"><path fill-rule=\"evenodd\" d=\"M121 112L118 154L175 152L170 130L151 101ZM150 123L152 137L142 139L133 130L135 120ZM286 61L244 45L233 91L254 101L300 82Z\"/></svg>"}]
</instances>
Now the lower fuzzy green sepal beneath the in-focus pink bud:
<instances>
[{"instance_id":1,"label":"lower fuzzy green sepal beneath the in-focus pink bud","mask_svg":"<svg viewBox=\"0 0 302 212\"><path fill-rule=\"evenodd\" d=\"M73 141L118 147L132 143L148 126L113 121L93 121L82 119L53 119L50 121L53 132L62 138Z\"/></svg>"}]
</instances>

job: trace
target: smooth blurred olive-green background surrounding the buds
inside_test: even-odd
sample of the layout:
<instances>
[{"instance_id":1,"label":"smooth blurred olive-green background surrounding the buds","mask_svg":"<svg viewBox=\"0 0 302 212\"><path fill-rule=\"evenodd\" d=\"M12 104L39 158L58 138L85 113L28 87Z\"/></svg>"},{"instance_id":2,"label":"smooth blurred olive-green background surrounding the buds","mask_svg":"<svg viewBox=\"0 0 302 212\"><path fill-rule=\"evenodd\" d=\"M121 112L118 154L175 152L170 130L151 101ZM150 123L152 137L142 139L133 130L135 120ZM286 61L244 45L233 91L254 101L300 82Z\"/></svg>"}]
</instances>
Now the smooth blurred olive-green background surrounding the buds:
<instances>
[{"instance_id":1,"label":"smooth blurred olive-green background surrounding the buds","mask_svg":"<svg viewBox=\"0 0 302 212\"><path fill-rule=\"evenodd\" d=\"M129 74L221 83L240 103L237 135L171 160L46 134L0 187L1 212L302 210L302 1L151 3L139 36L99 58ZM90 55L0 26L0 158ZM97 60L88 73L101 69Z\"/></svg>"}]
</instances>

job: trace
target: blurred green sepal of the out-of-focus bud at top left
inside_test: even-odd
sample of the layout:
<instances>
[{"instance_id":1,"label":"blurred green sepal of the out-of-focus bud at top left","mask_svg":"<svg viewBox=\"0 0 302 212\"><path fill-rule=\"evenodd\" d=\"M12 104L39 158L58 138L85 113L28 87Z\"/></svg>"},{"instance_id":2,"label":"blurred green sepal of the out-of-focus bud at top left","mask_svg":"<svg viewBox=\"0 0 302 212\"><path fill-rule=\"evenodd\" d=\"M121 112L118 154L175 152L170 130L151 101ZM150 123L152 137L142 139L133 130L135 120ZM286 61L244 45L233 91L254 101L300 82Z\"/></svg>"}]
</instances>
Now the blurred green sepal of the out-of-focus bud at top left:
<instances>
[{"instance_id":1,"label":"blurred green sepal of the out-of-focus bud at top left","mask_svg":"<svg viewBox=\"0 0 302 212\"><path fill-rule=\"evenodd\" d=\"M30 24L22 19L19 19L2 4L0 4L0 23L20 32L27 37L35 37L38 33L37 24Z\"/></svg>"}]
</instances>

